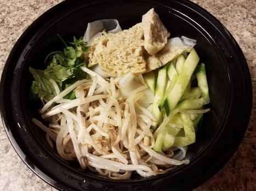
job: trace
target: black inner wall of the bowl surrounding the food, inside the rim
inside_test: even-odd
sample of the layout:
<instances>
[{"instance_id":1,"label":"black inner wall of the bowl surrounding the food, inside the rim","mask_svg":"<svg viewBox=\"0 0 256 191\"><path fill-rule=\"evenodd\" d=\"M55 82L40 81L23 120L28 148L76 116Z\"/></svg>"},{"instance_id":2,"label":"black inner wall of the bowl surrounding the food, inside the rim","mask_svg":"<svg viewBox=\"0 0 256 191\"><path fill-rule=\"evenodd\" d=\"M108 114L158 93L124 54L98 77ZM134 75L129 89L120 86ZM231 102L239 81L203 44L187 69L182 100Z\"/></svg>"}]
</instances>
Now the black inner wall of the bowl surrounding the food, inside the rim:
<instances>
[{"instance_id":1,"label":"black inner wall of the bowl surrounding the food, inside the rim","mask_svg":"<svg viewBox=\"0 0 256 191\"><path fill-rule=\"evenodd\" d=\"M44 58L51 51L62 50L64 45L56 34L59 34L66 41L72 41L73 36L81 37L84 34L87 23L99 19L115 18L120 21L123 29L127 29L138 22L141 22L141 16L151 9L153 6L150 4L136 4L129 3L123 4L101 4L93 8L79 8L63 17L56 18L54 23L47 23L47 30L37 34L37 41L33 43L33 51L27 55L24 63L25 67L22 73L24 80L21 82L21 105L24 112L27 114L27 122L29 130L37 138L41 145L44 146L49 152L52 152L48 146L44 132L31 122L32 117L40 118L37 114L40 103L33 103L28 99L27 93L29 92L32 76L28 71L29 66L33 68L45 68L43 63ZM167 27L171 37L186 37L197 40L195 49L200 56L200 62L206 63L207 77L209 83L209 91L211 96L211 104L209 108L211 111L204 115L202 127L197 134L196 143L189 147L187 158L192 159L201 152L217 135L221 122L224 116L225 106L227 102L227 86L228 80L226 79L226 69L223 60L220 58L217 47L214 41L205 34L200 27L190 20L185 20L179 13L173 9L155 7L155 11L160 15L164 26ZM110 11L112 10L112 11ZM132 11L133 14L129 14ZM221 72L219 72L221 71ZM79 169L76 163L69 163L65 160L62 162L67 163L74 169ZM90 173L90 172L88 172ZM133 178L138 178L133 176Z\"/></svg>"}]
</instances>

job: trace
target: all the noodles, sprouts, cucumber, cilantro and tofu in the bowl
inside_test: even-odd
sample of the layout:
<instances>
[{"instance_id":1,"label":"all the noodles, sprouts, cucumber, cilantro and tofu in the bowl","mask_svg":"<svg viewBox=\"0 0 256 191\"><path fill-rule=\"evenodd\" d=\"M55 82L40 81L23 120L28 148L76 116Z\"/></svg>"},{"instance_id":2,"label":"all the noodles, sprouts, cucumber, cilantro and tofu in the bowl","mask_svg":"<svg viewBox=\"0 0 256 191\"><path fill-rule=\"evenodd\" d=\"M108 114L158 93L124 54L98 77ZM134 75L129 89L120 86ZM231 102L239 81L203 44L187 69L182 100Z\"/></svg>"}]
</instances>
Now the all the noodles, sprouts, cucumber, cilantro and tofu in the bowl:
<instances>
[{"instance_id":1,"label":"all the noodles, sprouts, cucumber, cilantro and tofu in the bowl","mask_svg":"<svg viewBox=\"0 0 256 191\"><path fill-rule=\"evenodd\" d=\"M48 124L32 121L62 158L119 180L189 163L187 145L209 111L206 69L196 40L169 36L153 9L124 31L99 20L51 52L45 70L30 68L30 95Z\"/></svg>"}]
</instances>

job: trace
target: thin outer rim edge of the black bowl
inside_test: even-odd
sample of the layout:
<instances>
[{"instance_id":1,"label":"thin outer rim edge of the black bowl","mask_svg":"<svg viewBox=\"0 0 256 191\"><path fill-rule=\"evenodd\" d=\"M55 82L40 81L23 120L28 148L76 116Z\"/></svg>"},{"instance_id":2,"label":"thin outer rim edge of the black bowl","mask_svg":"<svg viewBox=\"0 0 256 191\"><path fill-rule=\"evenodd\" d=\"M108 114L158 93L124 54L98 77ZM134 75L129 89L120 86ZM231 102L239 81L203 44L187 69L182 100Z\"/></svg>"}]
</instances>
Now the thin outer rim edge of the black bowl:
<instances>
[{"instance_id":1,"label":"thin outer rim edge of the black bowl","mask_svg":"<svg viewBox=\"0 0 256 191\"><path fill-rule=\"evenodd\" d=\"M101 3L101 2L106 2L107 0L100 0L100 1L87 1L86 3ZM115 1L117 2L117 1ZM132 2L136 2L136 1L132 1ZM141 2L150 2L150 1L141 1ZM167 1L163 1L166 2L166 6L168 7L168 3ZM246 100L246 112L244 112L244 117L243 121L244 124L243 126L248 126L248 122L249 122L249 117L251 116L251 109L252 109L252 82L251 82L251 76L249 73L249 69L248 69L248 65L246 62L246 59L243 56L242 50L240 49L240 47L238 46L237 42L235 41L234 37L232 37L232 35L230 34L229 31L227 31L227 29L220 23L220 21L218 21L213 15L211 15L210 13L208 13L208 11L204 10L203 8L201 8L199 5L187 1L187 0L182 0L182 1L178 1L178 0L173 0L173 2L178 2L180 4L184 4L186 6L189 6L191 9L194 9L199 11L198 14L201 14L201 16L204 17L204 19L206 19L208 21L212 21L215 22L215 25L218 25L217 27L221 30L221 33L223 33L225 35L226 38L229 38L229 41L231 43L231 45L234 47L234 49L236 49L236 52L238 53L239 57L240 57L240 61L241 63L243 63L243 65L241 64L241 67L243 69L242 73L243 73L243 79L244 82L246 82L246 91L247 91L247 95L249 95L247 97ZM24 38L26 37L27 34L29 34L32 30L35 30L36 26L38 25L38 22L41 22L42 20L45 19L45 17L49 16L50 14L52 14L54 11L60 9L61 7L65 7L67 5L69 5L71 3L71 0L67 0L64 2L61 2L57 5L55 5L53 8L45 11L45 13L43 13L41 16L39 16L26 30L24 33L22 33L22 35L20 36L20 38L18 39L18 41L15 43L12 51L10 52L10 55L7 59L7 61L5 62L5 66L3 69L3 73L2 73L2 77L1 77L1 82L0 82L0 109L1 109L1 114L2 114L2 121L3 121L3 125L4 125L4 129L5 132L7 133L8 139L10 140L12 146L14 147L15 151L18 153L19 157L22 159L22 161L29 166L29 168L35 172L35 174L37 176L39 176L40 178L42 178L42 180L44 180L45 182L49 183L51 186L55 187L56 189L70 189L69 187L66 187L64 184L58 183L55 180L53 180L53 178L49 177L47 174L45 174L45 172L43 172L40 168L37 168L37 166L35 166L34 164L32 164L31 160L29 158L26 157L26 154L24 153L24 151L22 151L22 148L20 148L20 146L18 145L18 143L16 142L12 131L10 130L11 127L9 127L8 124L8 119L7 119L7 114L5 111L5 103L4 103L4 84L5 82L5 76L8 75L8 65L9 63L12 61L12 57L15 53L15 50L17 49L17 47L19 46L19 44L21 43L22 40L24 40ZM229 56L229 55L227 55ZM245 125L246 124L246 125ZM234 154L234 152L236 151L238 145L240 144L243 135L246 131L246 128L241 128L241 134L237 135L236 137L236 141L233 142L232 144L230 144L230 146L232 145L232 148L230 148L229 151L226 151L225 156L223 156L223 162L221 164L219 164L218 168L213 170L213 175L215 173L217 173L218 170L220 170L220 168L222 166L224 166L224 164L227 162L227 160L232 156L232 154ZM211 175L211 176L213 176ZM207 180L208 178L210 178L211 176L208 177L204 177L203 181L200 181L198 183L202 183L205 180ZM198 184L197 183L197 184ZM199 184L198 184L199 185ZM197 185L197 186L198 186Z\"/></svg>"}]
</instances>

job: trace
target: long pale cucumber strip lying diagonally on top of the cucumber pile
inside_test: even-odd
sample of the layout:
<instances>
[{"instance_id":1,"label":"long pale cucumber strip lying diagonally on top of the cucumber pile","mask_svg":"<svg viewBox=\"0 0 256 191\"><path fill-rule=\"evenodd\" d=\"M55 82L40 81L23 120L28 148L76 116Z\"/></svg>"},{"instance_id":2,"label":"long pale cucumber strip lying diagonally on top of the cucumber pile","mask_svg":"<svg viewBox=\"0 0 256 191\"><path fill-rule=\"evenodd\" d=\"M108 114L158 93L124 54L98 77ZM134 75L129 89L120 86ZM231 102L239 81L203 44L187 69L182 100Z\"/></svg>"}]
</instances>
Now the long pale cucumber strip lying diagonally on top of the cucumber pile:
<instances>
[{"instance_id":1,"label":"long pale cucumber strip lying diagonally on top of the cucumber pile","mask_svg":"<svg viewBox=\"0 0 256 191\"><path fill-rule=\"evenodd\" d=\"M167 114L174 110L175 106L178 104L194 70L196 69L198 62L199 57L195 49L192 49L189 56L187 56L186 61L184 62L183 69L181 70L180 75L175 82L174 87L172 88L172 91L170 91L169 95L167 96Z\"/></svg>"}]
</instances>

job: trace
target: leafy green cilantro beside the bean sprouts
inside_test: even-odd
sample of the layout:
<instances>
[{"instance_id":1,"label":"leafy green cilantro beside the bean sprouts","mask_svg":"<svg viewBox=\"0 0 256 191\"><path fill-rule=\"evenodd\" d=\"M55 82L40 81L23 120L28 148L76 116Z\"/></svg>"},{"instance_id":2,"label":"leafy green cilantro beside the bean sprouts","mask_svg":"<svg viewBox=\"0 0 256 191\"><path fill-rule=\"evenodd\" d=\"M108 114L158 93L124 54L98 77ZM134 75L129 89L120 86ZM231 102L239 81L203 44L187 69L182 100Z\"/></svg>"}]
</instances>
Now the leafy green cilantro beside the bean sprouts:
<instances>
[{"instance_id":1,"label":"leafy green cilantro beside the bean sprouts","mask_svg":"<svg viewBox=\"0 0 256 191\"><path fill-rule=\"evenodd\" d=\"M82 37L79 39L73 37L73 41L69 43L69 46L59 35L58 37L65 44L64 50L54 51L47 55L44 61L48 63L45 70L29 68L35 79L32 81L30 88L30 97L33 100L41 98L48 102L56 96L55 88L50 79L53 79L59 86L60 91L63 91L77 80L86 79L87 77L86 73L79 67L87 65L84 52L88 51L89 46L83 41ZM65 98L74 99L75 93L71 92Z\"/></svg>"}]
</instances>

